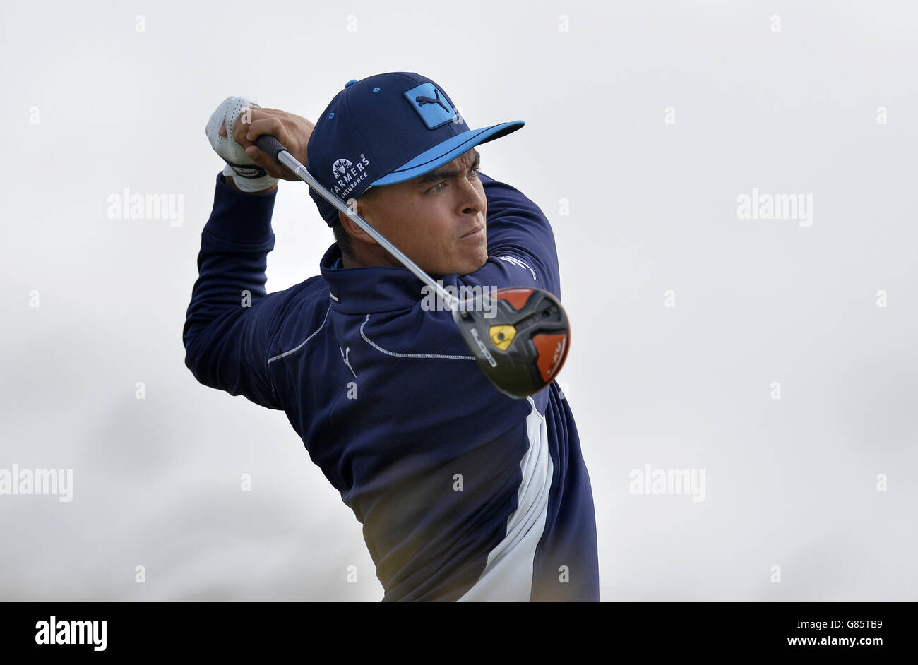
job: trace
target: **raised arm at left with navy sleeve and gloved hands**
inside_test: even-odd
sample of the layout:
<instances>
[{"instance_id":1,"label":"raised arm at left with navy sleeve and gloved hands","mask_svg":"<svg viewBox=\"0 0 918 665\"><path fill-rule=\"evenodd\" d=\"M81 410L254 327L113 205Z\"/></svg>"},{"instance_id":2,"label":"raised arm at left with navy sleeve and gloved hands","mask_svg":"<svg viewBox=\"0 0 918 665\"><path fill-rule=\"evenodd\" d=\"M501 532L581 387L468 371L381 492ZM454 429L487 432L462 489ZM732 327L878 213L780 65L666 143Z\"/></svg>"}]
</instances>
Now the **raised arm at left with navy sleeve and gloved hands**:
<instances>
[{"instance_id":1,"label":"raised arm at left with navy sleeve and gloved hands","mask_svg":"<svg viewBox=\"0 0 918 665\"><path fill-rule=\"evenodd\" d=\"M305 160L312 123L249 102L229 97L207 123L207 138L227 167L217 176L213 211L201 232L182 338L185 366L198 382L280 409L267 360L288 292L266 294L264 284L274 249L276 183L285 173L252 140L283 136Z\"/></svg>"}]
</instances>

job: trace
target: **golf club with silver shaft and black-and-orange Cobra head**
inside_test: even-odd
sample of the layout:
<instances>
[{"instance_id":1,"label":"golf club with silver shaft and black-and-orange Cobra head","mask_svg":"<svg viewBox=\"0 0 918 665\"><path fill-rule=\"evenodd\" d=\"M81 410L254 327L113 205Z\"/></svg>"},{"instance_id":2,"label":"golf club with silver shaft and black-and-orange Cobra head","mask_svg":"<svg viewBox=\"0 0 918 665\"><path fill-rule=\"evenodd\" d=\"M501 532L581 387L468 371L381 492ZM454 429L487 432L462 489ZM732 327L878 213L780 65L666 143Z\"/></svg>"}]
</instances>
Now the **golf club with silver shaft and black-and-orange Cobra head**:
<instances>
[{"instance_id":1,"label":"golf club with silver shaft and black-and-orange Cobra head","mask_svg":"<svg viewBox=\"0 0 918 665\"><path fill-rule=\"evenodd\" d=\"M482 290L460 301L390 243L379 231L317 181L280 141L263 134L255 145L294 172L322 198L354 224L364 229L383 249L438 294L453 313L453 320L478 366L497 389L517 399L538 393L554 380L570 348L570 325L560 301L543 289L502 288ZM491 300L494 298L494 300ZM484 313L493 316L483 316Z\"/></svg>"}]
</instances>

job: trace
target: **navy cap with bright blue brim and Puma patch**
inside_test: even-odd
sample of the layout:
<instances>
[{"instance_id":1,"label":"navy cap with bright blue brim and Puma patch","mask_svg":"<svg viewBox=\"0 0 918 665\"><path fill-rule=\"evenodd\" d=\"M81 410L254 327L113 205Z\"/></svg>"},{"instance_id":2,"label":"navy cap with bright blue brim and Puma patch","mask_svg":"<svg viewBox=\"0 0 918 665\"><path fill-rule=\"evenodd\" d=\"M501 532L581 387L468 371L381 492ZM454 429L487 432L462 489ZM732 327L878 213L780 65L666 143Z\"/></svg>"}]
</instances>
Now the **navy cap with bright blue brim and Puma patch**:
<instances>
[{"instance_id":1,"label":"navy cap with bright blue brim and Puma patch","mask_svg":"<svg viewBox=\"0 0 918 665\"><path fill-rule=\"evenodd\" d=\"M416 72L345 83L307 144L306 168L345 205L371 185L402 183L506 136L522 120L471 129L442 87ZM309 189L329 226L338 210Z\"/></svg>"}]
</instances>

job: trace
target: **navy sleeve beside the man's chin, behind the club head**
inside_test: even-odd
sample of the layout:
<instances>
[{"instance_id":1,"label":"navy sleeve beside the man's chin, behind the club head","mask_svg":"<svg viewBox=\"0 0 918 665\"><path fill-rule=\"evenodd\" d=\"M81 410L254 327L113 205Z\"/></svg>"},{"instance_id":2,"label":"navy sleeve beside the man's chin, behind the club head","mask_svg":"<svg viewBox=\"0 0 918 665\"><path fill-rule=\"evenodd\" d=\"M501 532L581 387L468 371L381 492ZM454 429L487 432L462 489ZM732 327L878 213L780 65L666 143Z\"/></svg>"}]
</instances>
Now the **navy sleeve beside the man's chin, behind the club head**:
<instances>
[{"instance_id":1,"label":"navy sleeve beside the man's chin, behind the club head","mask_svg":"<svg viewBox=\"0 0 918 665\"><path fill-rule=\"evenodd\" d=\"M460 278L466 285L535 286L558 298L561 278L554 233L538 205L484 173L487 196L487 263Z\"/></svg>"}]
</instances>

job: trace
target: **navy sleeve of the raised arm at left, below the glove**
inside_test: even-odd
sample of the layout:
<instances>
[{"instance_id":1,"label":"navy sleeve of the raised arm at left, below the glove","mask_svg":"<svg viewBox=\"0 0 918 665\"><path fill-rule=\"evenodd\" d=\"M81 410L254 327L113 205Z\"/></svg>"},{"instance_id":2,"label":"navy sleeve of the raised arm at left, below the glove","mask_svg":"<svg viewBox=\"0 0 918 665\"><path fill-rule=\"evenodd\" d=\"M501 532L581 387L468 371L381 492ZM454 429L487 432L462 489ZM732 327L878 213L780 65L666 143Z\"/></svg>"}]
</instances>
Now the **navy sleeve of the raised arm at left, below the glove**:
<instances>
[{"instance_id":1,"label":"navy sleeve of the raised arm at left, below the glove","mask_svg":"<svg viewBox=\"0 0 918 665\"><path fill-rule=\"evenodd\" d=\"M198 382L281 409L267 360L286 292L264 291L276 194L243 194L217 176L183 341L185 366Z\"/></svg>"}]
</instances>

